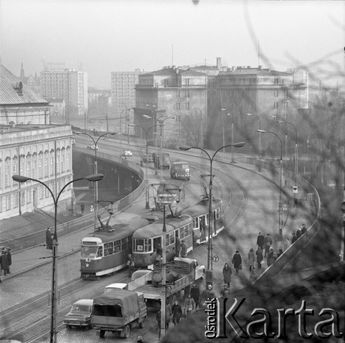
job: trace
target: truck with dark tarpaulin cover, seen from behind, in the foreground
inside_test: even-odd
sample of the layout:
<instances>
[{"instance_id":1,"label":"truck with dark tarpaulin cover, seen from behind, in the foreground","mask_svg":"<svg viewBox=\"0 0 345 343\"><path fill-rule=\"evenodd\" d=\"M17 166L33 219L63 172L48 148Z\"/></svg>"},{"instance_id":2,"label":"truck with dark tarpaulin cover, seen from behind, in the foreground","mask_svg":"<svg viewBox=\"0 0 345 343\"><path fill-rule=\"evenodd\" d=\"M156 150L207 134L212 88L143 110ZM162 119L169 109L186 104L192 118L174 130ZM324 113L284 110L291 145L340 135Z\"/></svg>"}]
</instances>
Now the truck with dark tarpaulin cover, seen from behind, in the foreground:
<instances>
[{"instance_id":1,"label":"truck with dark tarpaulin cover, seen from behind, in the foreground","mask_svg":"<svg viewBox=\"0 0 345 343\"><path fill-rule=\"evenodd\" d=\"M147 308L143 293L116 289L93 300L92 324L99 330L99 337L106 331L130 337L130 328L137 324L144 327Z\"/></svg>"}]
</instances>

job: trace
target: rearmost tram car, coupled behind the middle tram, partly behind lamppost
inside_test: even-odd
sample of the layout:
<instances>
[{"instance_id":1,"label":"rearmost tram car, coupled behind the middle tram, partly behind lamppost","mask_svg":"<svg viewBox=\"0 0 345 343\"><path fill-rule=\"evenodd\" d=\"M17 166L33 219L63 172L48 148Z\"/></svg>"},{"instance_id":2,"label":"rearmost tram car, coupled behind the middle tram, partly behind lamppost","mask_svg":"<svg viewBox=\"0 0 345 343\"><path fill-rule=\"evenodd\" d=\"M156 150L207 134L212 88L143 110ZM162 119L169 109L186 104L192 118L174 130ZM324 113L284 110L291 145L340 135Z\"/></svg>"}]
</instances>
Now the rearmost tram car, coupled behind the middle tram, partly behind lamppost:
<instances>
[{"instance_id":1,"label":"rearmost tram car, coupled behind the middle tram, partly behind lamppost","mask_svg":"<svg viewBox=\"0 0 345 343\"><path fill-rule=\"evenodd\" d=\"M193 235L194 247L208 242L210 233L208 231L208 212L210 208L210 203L208 199L201 200L197 204L185 208L182 210L182 214L190 215L193 218ZM213 210L213 225L212 225L212 237L217 236L222 230L224 230L224 208L221 199L213 199L212 202Z\"/></svg>"}]
</instances>

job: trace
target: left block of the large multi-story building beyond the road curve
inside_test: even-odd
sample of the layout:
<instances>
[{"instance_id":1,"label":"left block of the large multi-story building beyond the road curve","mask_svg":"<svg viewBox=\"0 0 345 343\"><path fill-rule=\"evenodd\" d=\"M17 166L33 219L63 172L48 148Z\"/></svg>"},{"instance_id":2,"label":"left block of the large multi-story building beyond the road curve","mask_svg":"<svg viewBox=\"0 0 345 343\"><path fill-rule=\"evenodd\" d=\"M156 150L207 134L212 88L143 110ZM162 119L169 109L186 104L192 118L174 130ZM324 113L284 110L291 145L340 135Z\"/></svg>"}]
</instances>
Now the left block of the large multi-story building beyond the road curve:
<instances>
[{"instance_id":1,"label":"left block of the large multi-story building beyond the road curve","mask_svg":"<svg viewBox=\"0 0 345 343\"><path fill-rule=\"evenodd\" d=\"M134 122L148 130L158 120L175 117L177 120L165 120L164 126L153 127L148 131L148 140L152 140L155 132L162 130L166 146L181 144L181 122L195 111L202 122L206 110L208 75L195 70L164 67L155 72L139 75L136 85L136 101ZM164 118L163 118L164 117ZM137 137L142 137L141 129L135 130ZM202 137L203 128L200 133ZM145 134L144 134L145 136ZM202 139L201 139L202 141Z\"/></svg>"}]
</instances>

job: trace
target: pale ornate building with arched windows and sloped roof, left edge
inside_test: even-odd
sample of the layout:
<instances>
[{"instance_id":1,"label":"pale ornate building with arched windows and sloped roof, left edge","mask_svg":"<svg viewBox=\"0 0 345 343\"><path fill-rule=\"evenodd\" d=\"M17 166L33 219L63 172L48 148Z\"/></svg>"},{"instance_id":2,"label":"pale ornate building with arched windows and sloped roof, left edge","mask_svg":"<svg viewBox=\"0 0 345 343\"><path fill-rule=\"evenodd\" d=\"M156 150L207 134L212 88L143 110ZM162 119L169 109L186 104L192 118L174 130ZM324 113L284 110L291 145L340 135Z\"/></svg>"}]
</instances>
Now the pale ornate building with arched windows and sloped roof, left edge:
<instances>
[{"instance_id":1,"label":"pale ornate building with arched windows and sloped roof, left edge","mask_svg":"<svg viewBox=\"0 0 345 343\"><path fill-rule=\"evenodd\" d=\"M0 71L0 219L35 208L53 212L45 186L19 184L12 175L38 179L57 195L72 180L72 130L50 125L48 101L2 65ZM72 195L72 187L61 194L59 211L72 208Z\"/></svg>"}]
</instances>

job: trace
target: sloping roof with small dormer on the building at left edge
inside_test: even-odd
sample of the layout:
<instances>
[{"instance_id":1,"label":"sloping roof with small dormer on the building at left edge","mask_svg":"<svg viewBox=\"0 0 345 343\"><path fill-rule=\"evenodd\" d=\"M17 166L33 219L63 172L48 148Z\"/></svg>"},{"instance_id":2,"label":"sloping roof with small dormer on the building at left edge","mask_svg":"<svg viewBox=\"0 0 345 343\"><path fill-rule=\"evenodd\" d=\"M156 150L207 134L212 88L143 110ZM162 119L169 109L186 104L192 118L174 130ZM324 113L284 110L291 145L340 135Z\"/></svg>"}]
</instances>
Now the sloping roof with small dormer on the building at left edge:
<instances>
[{"instance_id":1,"label":"sloping roof with small dormer on the building at left edge","mask_svg":"<svg viewBox=\"0 0 345 343\"><path fill-rule=\"evenodd\" d=\"M48 101L35 93L19 77L0 64L0 106L17 104L46 104Z\"/></svg>"}]
</instances>

